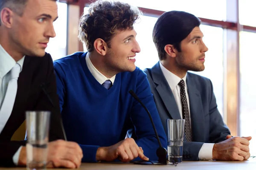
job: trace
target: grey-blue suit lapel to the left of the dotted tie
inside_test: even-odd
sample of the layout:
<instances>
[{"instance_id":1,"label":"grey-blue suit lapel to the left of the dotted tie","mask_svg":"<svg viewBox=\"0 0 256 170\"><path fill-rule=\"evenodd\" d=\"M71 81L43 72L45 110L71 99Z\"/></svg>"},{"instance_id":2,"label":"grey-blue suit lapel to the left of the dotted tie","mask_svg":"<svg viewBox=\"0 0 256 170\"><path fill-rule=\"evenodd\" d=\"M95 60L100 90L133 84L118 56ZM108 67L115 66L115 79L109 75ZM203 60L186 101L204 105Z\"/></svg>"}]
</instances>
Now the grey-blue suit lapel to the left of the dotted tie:
<instances>
[{"instance_id":1,"label":"grey-blue suit lapel to the left of the dotted tie","mask_svg":"<svg viewBox=\"0 0 256 170\"><path fill-rule=\"evenodd\" d=\"M163 103L172 119L181 119L180 112L172 94L172 90L163 75L159 62L151 69L152 79L156 84L156 90L161 96Z\"/></svg>"}]
</instances>

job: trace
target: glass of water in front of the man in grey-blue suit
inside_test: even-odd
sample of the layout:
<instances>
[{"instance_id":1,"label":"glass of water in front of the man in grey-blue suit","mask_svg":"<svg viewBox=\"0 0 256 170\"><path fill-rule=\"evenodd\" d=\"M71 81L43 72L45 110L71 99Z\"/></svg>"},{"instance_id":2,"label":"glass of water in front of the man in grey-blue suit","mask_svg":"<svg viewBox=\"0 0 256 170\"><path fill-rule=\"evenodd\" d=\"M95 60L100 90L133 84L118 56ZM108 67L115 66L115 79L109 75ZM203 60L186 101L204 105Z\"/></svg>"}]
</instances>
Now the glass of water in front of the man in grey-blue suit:
<instances>
[{"instance_id":1,"label":"glass of water in front of the man in grey-blue suit","mask_svg":"<svg viewBox=\"0 0 256 170\"><path fill-rule=\"evenodd\" d=\"M182 162L185 119L167 119L169 162Z\"/></svg>"}]
</instances>

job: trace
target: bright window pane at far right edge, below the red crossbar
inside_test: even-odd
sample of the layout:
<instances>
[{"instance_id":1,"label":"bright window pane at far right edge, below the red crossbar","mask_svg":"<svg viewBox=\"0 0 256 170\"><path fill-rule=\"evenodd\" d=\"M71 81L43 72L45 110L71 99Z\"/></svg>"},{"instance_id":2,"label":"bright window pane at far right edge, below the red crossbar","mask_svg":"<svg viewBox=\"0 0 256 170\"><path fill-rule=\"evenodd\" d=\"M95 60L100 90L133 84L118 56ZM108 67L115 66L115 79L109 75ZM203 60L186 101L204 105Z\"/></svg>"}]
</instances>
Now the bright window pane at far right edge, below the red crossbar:
<instances>
[{"instance_id":1,"label":"bright window pane at far right edge, below the red crossbar","mask_svg":"<svg viewBox=\"0 0 256 170\"><path fill-rule=\"evenodd\" d=\"M254 81L254 68L256 56L251 49L255 48L253 40L256 34L240 32L240 136L253 136L256 132L256 81ZM250 141L250 153L255 156L255 136Z\"/></svg>"}]
</instances>

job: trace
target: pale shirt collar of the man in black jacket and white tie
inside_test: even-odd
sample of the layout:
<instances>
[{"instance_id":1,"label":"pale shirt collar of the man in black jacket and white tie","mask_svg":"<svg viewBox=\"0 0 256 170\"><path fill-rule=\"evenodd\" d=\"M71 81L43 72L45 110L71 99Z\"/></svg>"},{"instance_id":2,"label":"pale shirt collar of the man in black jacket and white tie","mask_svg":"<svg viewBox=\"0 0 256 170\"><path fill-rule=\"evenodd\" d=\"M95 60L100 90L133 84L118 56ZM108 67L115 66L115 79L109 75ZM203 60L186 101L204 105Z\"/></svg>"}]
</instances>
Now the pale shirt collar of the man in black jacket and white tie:
<instances>
[{"instance_id":1,"label":"pale shirt collar of the man in black jacket and white tie","mask_svg":"<svg viewBox=\"0 0 256 170\"><path fill-rule=\"evenodd\" d=\"M20 65L20 72L22 71L23 62L25 56L23 56L17 63ZM12 68L15 66L15 60L5 49L0 45L0 78L3 78Z\"/></svg>"}]
</instances>

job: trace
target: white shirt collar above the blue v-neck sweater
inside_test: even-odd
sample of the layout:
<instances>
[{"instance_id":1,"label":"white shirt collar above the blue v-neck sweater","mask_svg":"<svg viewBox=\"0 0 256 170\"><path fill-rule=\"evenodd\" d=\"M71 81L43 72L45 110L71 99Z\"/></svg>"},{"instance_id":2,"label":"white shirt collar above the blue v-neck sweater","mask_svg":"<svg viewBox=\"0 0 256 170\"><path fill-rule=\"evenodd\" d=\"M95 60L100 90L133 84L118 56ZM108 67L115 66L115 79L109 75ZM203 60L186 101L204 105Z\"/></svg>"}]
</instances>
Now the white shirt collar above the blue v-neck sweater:
<instances>
[{"instance_id":1,"label":"white shirt collar above the blue v-neck sweater","mask_svg":"<svg viewBox=\"0 0 256 170\"><path fill-rule=\"evenodd\" d=\"M114 76L111 77L111 78L107 78L107 77L105 77L103 74L101 74L101 72L99 72L99 71L97 70L97 68L94 67L93 63L91 62L88 52L87 52L87 54L86 54L85 61L86 61L86 64L87 64L87 67L88 67L89 71L91 72L91 74L93 74L93 77L94 77L101 85L102 85L102 83L104 83L104 82L105 82L106 80L108 80L108 79L112 82L112 85L114 84L116 75L114 75Z\"/></svg>"}]
</instances>

